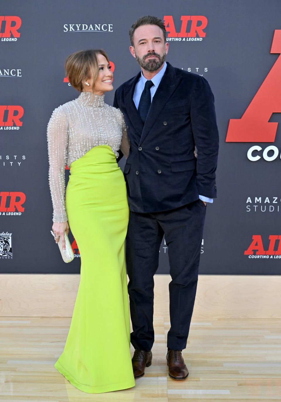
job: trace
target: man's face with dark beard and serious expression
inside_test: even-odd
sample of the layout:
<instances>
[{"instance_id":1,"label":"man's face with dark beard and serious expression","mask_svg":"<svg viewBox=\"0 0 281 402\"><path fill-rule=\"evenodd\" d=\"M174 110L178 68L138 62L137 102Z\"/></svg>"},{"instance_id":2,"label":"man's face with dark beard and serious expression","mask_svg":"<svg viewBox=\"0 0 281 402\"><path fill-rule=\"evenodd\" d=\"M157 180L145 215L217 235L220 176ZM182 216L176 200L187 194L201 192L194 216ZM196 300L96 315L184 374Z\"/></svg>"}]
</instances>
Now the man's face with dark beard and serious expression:
<instances>
[{"instance_id":1,"label":"man's face with dark beard and serious expression","mask_svg":"<svg viewBox=\"0 0 281 402\"><path fill-rule=\"evenodd\" d=\"M133 36L134 46L130 52L146 71L157 71L164 63L169 44L165 43L163 31L157 25L142 25Z\"/></svg>"}]
</instances>

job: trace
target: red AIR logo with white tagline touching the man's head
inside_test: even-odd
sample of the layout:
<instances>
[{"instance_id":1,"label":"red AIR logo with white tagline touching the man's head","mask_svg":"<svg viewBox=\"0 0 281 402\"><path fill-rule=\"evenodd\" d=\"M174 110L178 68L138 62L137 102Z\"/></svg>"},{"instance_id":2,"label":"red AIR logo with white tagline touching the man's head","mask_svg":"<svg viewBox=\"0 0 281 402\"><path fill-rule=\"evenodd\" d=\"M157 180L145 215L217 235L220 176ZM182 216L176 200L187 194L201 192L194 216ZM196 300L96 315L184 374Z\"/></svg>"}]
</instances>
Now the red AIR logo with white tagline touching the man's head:
<instances>
[{"instance_id":1,"label":"red AIR logo with white tagline touching the man's head","mask_svg":"<svg viewBox=\"0 0 281 402\"><path fill-rule=\"evenodd\" d=\"M182 15L179 32L176 32L172 15L165 15L163 19L168 34L167 41L202 41L206 36L204 29L208 20L203 15Z\"/></svg>"}]
</instances>

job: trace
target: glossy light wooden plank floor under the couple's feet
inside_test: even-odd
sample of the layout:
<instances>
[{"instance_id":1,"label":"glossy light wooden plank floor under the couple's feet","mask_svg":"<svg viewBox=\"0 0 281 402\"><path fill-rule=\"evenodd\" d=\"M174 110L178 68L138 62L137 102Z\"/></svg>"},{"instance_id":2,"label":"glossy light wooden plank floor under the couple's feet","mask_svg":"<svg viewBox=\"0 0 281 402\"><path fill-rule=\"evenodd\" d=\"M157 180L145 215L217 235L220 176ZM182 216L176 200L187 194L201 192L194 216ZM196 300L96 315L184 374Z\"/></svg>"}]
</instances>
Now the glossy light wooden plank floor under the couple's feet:
<instances>
[{"instance_id":1,"label":"glossy light wooden plank floor under the couple's feet","mask_svg":"<svg viewBox=\"0 0 281 402\"><path fill-rule=\"evenodd\" d=\"M280 319L195 318L184 351L189 377L175 381L165 360L168 311L156 311L152 366L135 388L106 394L77 390L53 367L69 325L69 317L0 317L1 402L281 400Z\"/></svg>"}]
</instances>

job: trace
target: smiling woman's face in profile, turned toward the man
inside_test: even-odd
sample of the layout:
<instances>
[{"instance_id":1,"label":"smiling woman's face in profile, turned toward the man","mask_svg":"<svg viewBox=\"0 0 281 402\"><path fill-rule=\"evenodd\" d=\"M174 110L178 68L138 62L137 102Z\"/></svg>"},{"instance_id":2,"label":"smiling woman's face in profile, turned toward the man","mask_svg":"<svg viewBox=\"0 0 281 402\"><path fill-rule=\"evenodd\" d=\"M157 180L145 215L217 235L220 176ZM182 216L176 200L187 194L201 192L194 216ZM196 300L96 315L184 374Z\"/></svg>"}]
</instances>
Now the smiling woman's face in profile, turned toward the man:
<instances>
[{"instance_id":1,"label":"smiling woman's face in profile, turned toward the man","mask_svg":"<svg viewBox=\"0 0 281 402\"><path fill-rule=\"evenodd\" d=\"M89 78L89 86L84 85L85 91L92 92L93 77ZM107 91L113 90L113 72L111 72L111 66L107 62L107 59L102 54L98 54L98 77L94 83L94 94L103 95Z\"/></svg>"}]
</instances>

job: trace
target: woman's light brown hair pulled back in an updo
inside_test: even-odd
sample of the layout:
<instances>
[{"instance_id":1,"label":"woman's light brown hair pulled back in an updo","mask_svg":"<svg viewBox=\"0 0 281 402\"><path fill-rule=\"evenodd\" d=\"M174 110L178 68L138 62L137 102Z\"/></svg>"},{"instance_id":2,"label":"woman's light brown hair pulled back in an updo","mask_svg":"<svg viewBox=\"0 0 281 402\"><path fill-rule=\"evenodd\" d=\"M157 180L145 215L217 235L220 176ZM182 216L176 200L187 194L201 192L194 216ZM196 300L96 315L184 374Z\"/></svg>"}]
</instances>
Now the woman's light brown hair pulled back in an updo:
<instances>
[{"instance_id":1,"label":"woman's light brown hair pulled back in an updo","mask_svg":"<svg viewBox=\"0 0 281 402\"><path fill-rule=\"evenodd\" d=\"M108 55L102 49L76 51L66 59L64 64L66 75L70 84L79 92L83 90L82 82L90 78L90 72L94 78L92 89L94 88L94 83L98 77L98 54L105 56L109 63Z\"/></svg>"}]
</instances>

